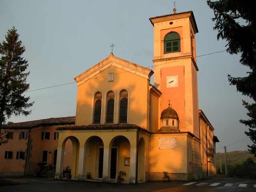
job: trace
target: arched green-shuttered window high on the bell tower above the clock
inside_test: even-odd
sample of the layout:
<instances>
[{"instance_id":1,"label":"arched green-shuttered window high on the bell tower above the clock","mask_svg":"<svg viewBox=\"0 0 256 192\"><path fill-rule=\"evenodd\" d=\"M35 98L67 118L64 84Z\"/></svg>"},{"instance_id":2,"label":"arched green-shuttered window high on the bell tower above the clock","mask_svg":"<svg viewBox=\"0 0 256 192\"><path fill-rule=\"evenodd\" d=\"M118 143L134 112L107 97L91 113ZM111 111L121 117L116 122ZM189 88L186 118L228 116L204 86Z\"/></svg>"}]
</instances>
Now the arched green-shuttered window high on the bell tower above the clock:
<instances>
[{"instance_id":1,"label":"arched green-shuttered window high on the bell tower above the clock","mask_svg":"<svg viewBox=\"0 0 256 192\"><path fill-rule=\"evenodd\" d=\"M180 51L180 35L170 32L164 37L164 53Z\"/></svg>"}]
</instances>

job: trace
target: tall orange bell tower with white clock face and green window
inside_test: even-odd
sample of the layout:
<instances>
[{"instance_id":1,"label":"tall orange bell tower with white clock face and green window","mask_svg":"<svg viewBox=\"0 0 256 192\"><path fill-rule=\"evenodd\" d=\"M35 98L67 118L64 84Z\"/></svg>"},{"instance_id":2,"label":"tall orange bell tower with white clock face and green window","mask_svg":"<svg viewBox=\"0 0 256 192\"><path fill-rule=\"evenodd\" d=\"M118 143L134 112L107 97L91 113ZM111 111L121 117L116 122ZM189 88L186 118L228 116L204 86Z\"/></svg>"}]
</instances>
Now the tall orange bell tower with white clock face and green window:
<instances>
[{"instance_id":1,"label":"tall orange bell tower with white clock face and green window","mask_svg":"<svg viewBox=\"0 0 256 192\"><path fill-rule=\"evenodd\" d=\"M149 20L154 26L154 86L162 92L161 112L171 100L180 131L199 136L194 14L176 13L174 8L173 14Z\"/></svg>"}]
</instances>

